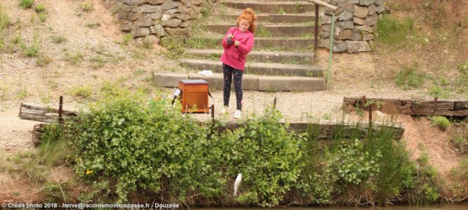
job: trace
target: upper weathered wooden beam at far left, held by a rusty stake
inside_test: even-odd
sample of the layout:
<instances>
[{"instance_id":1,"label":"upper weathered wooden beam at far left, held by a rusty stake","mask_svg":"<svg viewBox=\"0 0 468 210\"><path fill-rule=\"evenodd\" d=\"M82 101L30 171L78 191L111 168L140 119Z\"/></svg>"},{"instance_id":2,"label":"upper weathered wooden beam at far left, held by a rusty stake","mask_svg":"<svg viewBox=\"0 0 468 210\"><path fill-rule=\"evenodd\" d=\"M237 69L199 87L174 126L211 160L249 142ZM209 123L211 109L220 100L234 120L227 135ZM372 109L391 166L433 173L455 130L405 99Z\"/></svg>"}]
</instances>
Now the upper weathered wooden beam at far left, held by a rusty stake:
<instances>
[{"instance_id":1,"label":"upper weathered wooden beam at far left, held by a rusty stake","mask_svg":"<svg viewBox=\"0 0 468 210\"><path fill-rule=\"evenodd\" d=\"M63 118L72 118L78 115L77 111L63 110ZM42 104L21 104L20 119L33 120L44 123L57 123L58 122L58 109Z\"/></svg>"}]
</instances>

